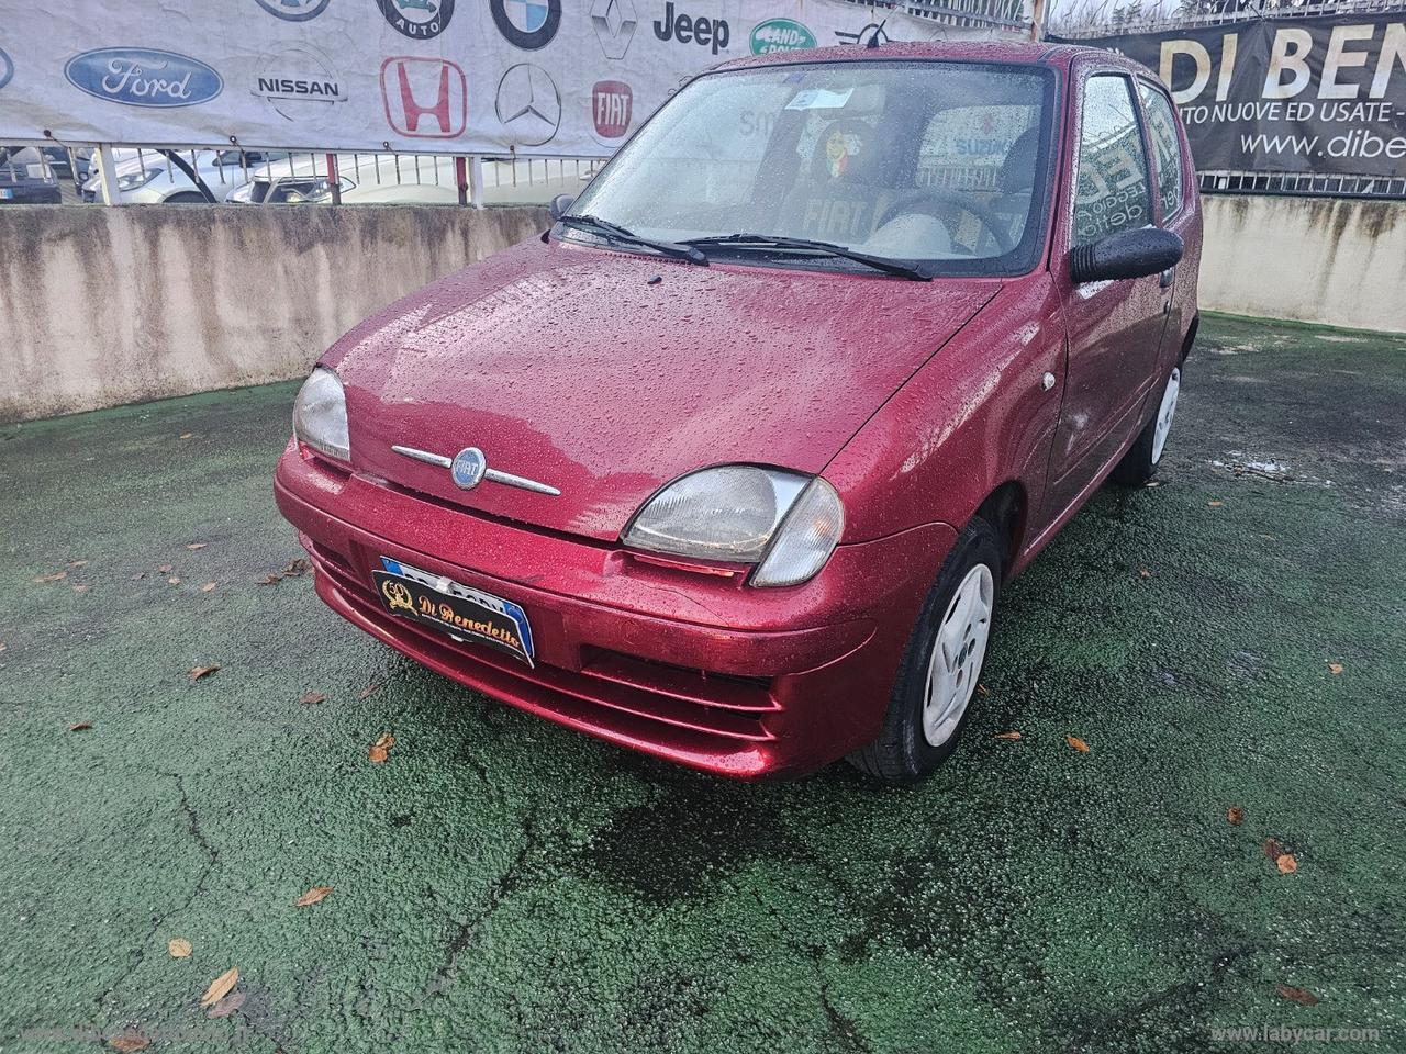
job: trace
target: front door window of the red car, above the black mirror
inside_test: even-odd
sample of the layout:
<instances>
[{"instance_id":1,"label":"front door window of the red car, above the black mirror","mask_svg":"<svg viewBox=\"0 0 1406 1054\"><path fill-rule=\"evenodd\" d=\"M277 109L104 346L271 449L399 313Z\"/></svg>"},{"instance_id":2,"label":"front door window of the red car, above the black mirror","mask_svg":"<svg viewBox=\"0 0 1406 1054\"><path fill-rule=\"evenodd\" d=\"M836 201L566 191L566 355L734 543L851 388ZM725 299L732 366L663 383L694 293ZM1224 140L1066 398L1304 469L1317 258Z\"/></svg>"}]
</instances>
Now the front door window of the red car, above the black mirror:
<instances>
[{"instance_id":1,"label":"front door window of the red car, above the black mirror","mask_svg":"<svg viewBox=\"0 0 1406 1054\"><path fill-rule=\"evenodd\" d=\"M1152 222L1152 178L1128 77L1101 74L1084 87L1074 193L1074 245Z\"/></svg>"}]
</instances>

